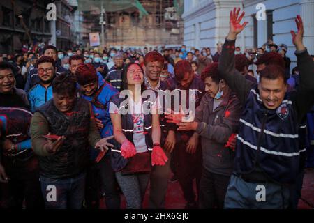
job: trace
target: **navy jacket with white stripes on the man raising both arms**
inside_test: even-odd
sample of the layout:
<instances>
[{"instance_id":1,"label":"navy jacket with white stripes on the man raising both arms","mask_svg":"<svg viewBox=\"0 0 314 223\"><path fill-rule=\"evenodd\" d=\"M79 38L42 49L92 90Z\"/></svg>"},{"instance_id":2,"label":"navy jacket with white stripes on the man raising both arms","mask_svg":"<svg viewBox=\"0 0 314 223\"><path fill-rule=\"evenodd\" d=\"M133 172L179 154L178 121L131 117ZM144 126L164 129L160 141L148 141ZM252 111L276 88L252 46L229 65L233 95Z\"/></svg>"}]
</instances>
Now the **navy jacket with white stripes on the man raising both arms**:
<instances>
[{"instance_id":1,"label":"navy jacket with white stripes on the man raising both arms","mask_svg":"<svg viewBox=\"0 0 314 223\"><path fill-rule=\"evenodd\" d=\"M314 64L311 56L307 50L295 53L300 69L300 88L285 93L278 108L267 109L257 85L247 81L234 68L234 43L235 40L225 41L218 65L220 76L237 93L244 107L234 171L246 177L258 176L255 181L266 178L280 184L294 183L300 171L302 153L306 151L299 144L299 129L314 102Z\"/></svg>"}]
</instances>

